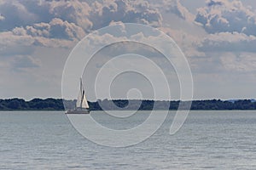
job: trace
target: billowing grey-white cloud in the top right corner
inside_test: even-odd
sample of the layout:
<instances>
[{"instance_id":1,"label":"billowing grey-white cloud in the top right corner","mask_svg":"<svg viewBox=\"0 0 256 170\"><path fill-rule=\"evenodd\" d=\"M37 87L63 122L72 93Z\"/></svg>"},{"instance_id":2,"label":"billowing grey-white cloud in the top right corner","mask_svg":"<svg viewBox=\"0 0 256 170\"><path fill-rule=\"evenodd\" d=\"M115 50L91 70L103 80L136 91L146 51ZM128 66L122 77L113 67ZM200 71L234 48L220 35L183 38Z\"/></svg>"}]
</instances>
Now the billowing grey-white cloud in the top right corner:
<instances>
[{"instance_id":1,"label":"billowing grey-white cloud in the top right corner","mask_svg":"<svg viewBox=\"0 0 256 170\"><path fill-rule=\"evenodd\" d=\"M195 22L209 33L236 31L256 35L256 14L238 0L207 1L206 7L198 9Z\"/></svg>"}]
</instances>

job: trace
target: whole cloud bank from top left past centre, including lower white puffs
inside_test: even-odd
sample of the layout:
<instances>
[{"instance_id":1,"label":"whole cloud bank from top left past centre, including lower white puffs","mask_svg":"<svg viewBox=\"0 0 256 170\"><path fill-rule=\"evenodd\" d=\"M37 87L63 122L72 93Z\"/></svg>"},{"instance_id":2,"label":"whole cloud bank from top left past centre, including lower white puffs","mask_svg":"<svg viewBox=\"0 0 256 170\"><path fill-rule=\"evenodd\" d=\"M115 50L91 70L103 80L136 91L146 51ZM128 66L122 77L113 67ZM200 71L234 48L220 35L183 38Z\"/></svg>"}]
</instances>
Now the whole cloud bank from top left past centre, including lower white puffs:
<instances>
[{"instance_id":1,"label":"whole cloud bank from top left past centre, including lower white puffs","mask_svg":"<svg viewBox=\"0 0 256 170\"><path fill-rule=\"evenodd\" d=\"M162 20L160 12L146 1L12 0L1 2L0 11L2 39L15 44L20 38L46 47L73 47L90 31L113 22L160 26Z\"/></svg>"}]
</instances>

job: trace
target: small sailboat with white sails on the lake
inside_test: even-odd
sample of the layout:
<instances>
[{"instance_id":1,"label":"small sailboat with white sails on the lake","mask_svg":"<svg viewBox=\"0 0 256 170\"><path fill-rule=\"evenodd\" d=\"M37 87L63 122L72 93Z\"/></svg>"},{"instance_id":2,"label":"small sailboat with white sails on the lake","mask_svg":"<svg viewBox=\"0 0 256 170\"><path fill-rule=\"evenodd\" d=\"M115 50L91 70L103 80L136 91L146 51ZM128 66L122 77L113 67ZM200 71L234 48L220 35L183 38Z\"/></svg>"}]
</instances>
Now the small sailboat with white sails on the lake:
<instances>
[{"instance_id":1,"label":"small sailboat with white sails on the lake","mask_svg":"<svg viewBox=\"0 0 256 170\"><path fill-rule=\"evenodd\" d=\"M79 97L73 110L66 111L66 114L89 114L90 109L84 93L82 78L80 78Z\"/></svg>"}]
</instances>

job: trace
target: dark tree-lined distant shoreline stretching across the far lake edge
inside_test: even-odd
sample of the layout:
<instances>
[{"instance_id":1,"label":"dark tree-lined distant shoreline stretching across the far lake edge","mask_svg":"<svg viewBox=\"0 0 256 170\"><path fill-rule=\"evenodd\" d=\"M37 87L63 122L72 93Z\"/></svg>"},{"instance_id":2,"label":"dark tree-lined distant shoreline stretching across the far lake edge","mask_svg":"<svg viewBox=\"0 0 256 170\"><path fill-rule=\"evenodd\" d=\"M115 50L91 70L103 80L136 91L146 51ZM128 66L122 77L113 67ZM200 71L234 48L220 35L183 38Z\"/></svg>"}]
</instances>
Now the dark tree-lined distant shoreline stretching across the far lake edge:
<instances>
[{"instance_id":1,"label":"dark tree-lined distant shoreline stretching across the far lake edge","mask_svg":"<svg viewBox=\"0 0 256 170\"><path fill-rule=\"evenodd\" d=\"M32 99L26 101L25 99L0 99L0 111L64 111L64 104L67 109L74 107L76 100L62 100L62 99ZM189 104L191 108L189 109ZM114 104L114 105L113 105ZM129 104L129 105L128 105ZM177 111L191 110L191 111L255 111L256 101L254 99L205 99L191 101L160 101L150 99L103 99L96 102L89 102L91 111Z\"/></svg>"}]
</instances>

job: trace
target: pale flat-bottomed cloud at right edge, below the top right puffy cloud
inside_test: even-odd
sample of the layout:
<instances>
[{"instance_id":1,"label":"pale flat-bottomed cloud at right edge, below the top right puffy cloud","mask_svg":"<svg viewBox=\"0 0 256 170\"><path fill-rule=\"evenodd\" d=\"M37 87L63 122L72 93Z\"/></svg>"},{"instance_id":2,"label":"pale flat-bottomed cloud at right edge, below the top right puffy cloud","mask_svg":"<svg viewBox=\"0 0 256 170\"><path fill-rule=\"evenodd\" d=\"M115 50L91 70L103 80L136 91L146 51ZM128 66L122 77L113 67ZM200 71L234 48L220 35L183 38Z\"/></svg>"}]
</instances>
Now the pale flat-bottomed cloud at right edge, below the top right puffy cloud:
<instances>
[{"instance_id":1,"label":"pale flat-bottomed cloud at right edge, below the top right puffy cloud","mask_svg":"<svg viewBox=\"0 0 256 170\"><path fill-rule=\"evenodd\" d=\"M234 73L256 71L256 37L238 32L219 32L202 38L197 50L205 54L192 59L199 72ZM202 61L202 62L201 62Z\"/></svg>"}]
</instances>

